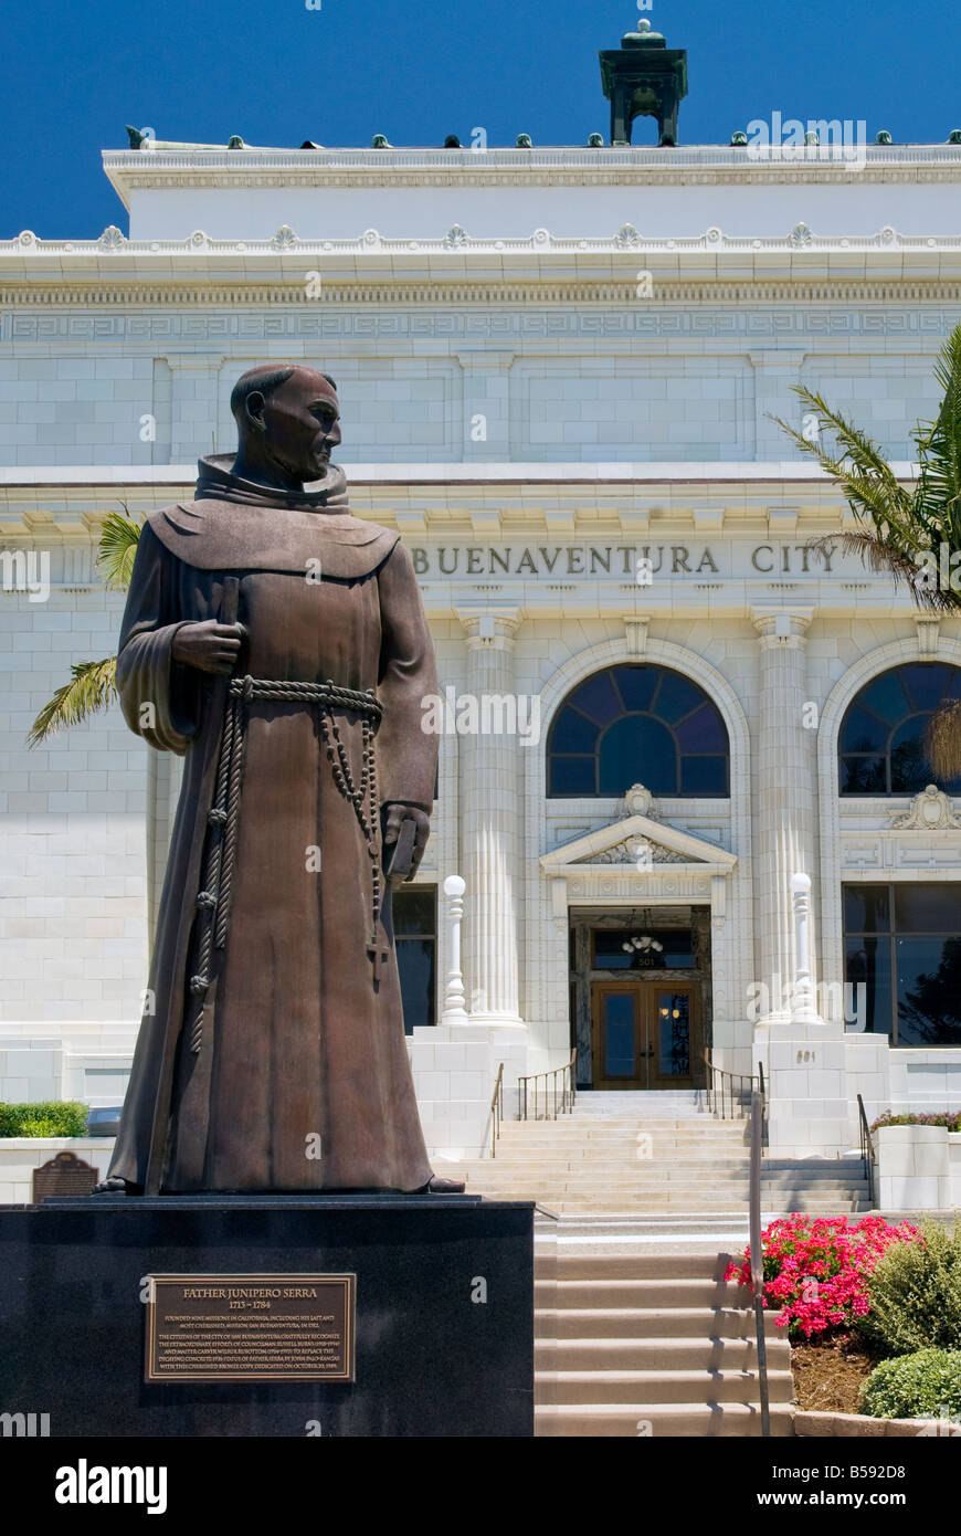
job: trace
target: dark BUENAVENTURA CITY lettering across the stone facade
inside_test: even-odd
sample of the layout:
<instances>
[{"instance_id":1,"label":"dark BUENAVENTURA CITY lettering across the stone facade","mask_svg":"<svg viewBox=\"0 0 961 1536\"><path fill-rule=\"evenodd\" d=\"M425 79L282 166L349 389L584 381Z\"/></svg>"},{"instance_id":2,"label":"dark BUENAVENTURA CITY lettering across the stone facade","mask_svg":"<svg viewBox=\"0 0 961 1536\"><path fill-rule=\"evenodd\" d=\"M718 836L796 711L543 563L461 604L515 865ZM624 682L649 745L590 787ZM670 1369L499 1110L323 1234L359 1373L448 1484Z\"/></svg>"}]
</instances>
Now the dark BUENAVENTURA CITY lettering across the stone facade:
<instances>
[{"instance_id":1,"label":"dark BUENAVENTURA CITY lettering across the stone facade","mask_svg":"<svg viewBox=\"0 0 961 1536\"><path fill-rule=\"evenodd\" d=\"M726 545L714 551L708 545L688 544L566 544L566 545L438 545L411 548L418 576L611 576L637 579L643 567L652 576L735 576L745 553L743 574L760 576L832 574L837 545L812 548L809 544L757 544L748 550Z\"/></svg>"}]
</instances>

